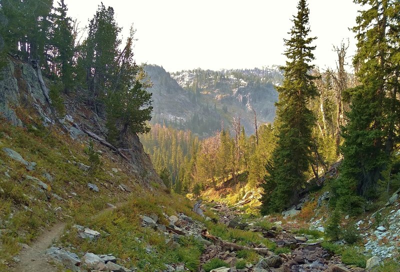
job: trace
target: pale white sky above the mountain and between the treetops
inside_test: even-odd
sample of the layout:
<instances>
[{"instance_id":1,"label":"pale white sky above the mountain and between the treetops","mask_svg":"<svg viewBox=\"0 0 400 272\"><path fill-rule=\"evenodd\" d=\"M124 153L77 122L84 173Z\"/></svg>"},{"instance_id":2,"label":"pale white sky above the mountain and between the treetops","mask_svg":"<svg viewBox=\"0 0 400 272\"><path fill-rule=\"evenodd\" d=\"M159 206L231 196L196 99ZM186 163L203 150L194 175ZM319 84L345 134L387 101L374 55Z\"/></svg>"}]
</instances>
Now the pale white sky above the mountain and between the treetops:
<instances>
[{"instance_id":1,"label":"pale white sky above the mountain and between the treetops","mask_svg":"<svg viewBox=\"0 0 400 272\"><path fill-rule=\"evenodd\" d=\"M101 0L65 0L69 16L88 24ZM112 6L126 38L136 29L137 63L182 69L231 69L282 65L284 38L292 26L298 0L102 0ZM352 0L308 0L315 60L335 67L333 45L349 39L348 62L355 51L359 6Z\"/></svg>"}]
</instances>

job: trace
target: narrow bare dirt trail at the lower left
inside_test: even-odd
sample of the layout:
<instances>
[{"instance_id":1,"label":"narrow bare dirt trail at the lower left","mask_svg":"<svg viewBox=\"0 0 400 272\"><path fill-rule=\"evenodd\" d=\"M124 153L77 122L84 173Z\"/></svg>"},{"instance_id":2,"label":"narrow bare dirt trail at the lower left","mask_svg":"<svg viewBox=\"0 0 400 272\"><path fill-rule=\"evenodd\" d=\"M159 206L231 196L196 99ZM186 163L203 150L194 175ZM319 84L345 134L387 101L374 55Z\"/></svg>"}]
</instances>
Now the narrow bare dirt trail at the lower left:
<instances>
[{"instance_id":1,"label":"narrow bare dirt trail at the lower left","mask_svg":"<svg viewBox=\"0 0 400 272\"><path fill-rule=\"evenodd\" d=\"M65 227L65 223L58 223L43 232L33 244L22 249L18 255L20 261L14 268L17 272L54 272L56 268L47 262L45 251L56 240Z\"/></svg>"}]
</instances>

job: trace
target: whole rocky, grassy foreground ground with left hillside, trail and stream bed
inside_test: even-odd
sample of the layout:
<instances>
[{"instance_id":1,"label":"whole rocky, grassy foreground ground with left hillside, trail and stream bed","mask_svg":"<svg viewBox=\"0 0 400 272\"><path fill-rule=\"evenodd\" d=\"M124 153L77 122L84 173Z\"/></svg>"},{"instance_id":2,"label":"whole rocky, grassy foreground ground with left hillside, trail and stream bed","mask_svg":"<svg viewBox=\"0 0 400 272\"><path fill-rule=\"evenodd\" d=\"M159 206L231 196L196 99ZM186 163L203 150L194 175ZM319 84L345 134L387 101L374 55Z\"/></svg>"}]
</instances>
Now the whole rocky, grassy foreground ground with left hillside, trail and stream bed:
<instances>
[{"instance_id":1,"label":"whole rocky, grassy foreground ground with left hillside, trail and stream bed","mask_svg":"<svg viewBox=\"0 0 400 272\"><path fill-rule=\"evenodd\" d=\"M361 272L397 256L398 192L357 222L355 246L322 242L318 194L285 216L244 202L194 209L165 189L135 135L130 148L104 145L103 120L73 97L55 118L28 63L11 60L2 78L1 272Z\"/></svg>"}]
</instances>

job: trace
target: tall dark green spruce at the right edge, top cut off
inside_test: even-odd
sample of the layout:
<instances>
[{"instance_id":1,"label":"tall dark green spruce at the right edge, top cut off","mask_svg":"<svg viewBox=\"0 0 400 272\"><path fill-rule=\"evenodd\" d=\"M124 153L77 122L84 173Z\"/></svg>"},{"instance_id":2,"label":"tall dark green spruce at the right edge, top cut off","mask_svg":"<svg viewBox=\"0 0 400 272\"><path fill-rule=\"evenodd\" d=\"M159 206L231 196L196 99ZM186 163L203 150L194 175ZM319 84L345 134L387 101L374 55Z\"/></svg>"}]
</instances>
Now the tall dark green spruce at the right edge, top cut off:
<instances>
[{"instance_id":1,"label":"tall dark green spruce at the right edge, top cut off","mask_svg":"<svg viewBox=\"0 0 400 272\"><path fill-rule=\"evenodd\" d=\"M359 85L347 91L351 110L343 128L344 159L336 186L337 204L352 213L362 210L364 198L375 196L400 135L400 2L355 2L367 8L359 11L353 28L357 38L353 64Z\"/></svg>"}]
</instances>

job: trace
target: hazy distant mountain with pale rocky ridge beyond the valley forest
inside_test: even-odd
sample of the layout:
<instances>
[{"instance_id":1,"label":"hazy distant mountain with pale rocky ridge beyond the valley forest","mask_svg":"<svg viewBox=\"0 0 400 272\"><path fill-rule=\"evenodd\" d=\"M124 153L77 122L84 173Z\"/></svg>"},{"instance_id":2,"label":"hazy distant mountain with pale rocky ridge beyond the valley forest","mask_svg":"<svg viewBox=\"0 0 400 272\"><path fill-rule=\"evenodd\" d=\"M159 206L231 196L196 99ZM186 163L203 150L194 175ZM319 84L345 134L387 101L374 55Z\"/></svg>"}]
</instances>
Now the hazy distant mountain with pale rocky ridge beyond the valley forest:
<instances>
[{"instance_id":1,"label":"hazy distant mountain with pale rocky ridge beyond the valley forest","mask_svg":"<svg viewBox=\"0 0 400 272\"><path fill-rule=\"evenodd\" d=\"M154 85L153 123L169 121L177 128L189 128L201 135L220 129L221 121L230 125L233 116L241 117L248 134L257 122L272 122L275 116L274 89L282 81L276 67L235 70L187 70L168 73L162 67L147 65ZM201 119L199 121L199 119Z\"/></svg>"}]
</instances>

